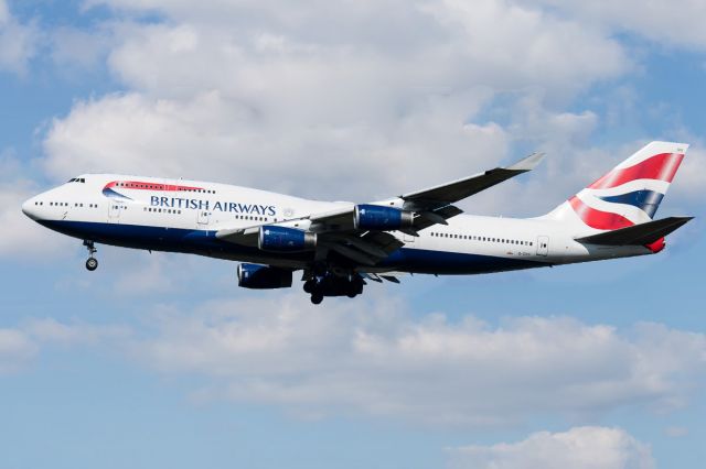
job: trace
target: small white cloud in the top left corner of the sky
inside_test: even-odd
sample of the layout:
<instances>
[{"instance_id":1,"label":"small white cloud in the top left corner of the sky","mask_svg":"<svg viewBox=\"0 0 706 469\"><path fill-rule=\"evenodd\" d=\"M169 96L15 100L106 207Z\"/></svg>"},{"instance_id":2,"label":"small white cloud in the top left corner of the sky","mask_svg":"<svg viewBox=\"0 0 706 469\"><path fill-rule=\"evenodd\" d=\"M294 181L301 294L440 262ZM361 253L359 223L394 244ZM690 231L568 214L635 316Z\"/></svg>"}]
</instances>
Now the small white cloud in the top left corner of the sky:
<instances>
[{"instance_id":1,"label":"small white cloud in the top left corner of the sky","mask_svg":"<svg viewBox=\"0 0 706 469\"><path fill-rule=\"evenodd\" d=\"M6 0L0 0L0 70L25 73L29 59L36 52L39 39L36 26L18 22Z\"/></svg>"}]
</instances>

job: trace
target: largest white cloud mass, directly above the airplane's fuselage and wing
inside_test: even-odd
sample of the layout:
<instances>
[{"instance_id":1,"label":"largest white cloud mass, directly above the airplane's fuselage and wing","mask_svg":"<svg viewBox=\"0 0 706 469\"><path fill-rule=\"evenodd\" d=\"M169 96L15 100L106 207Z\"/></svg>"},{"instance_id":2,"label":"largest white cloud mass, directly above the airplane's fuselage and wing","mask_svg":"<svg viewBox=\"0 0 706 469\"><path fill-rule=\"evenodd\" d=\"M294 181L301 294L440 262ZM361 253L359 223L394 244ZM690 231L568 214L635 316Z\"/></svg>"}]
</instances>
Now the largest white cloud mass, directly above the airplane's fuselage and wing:
<instances>
[{"instance_id":1,"label":"largest white cloud mass, directly above the airplane's fuselage and wing","mask_svg":"<svg viewBox=\"0 0 706 469\"><path fill-rule=\"evenodd\" d=\"M107 3L171 21L115 26L109 65L131 91L54 121L57 178L107 170L384 197L504 159L507 129L474 119L498 94L543 88L542 107L630 69L609 36L502 1Z\"/></svg>"}]
</instances>

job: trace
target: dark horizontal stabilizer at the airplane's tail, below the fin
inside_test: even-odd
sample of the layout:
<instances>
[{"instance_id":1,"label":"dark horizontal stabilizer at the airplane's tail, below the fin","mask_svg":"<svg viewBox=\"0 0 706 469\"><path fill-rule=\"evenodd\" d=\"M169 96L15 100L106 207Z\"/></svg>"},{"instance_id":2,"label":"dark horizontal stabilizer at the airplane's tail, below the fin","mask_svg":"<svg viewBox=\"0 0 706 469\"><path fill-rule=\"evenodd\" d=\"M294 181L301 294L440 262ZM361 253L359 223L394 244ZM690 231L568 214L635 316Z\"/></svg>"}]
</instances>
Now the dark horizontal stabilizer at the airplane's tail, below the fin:
<instances>
[{"instance_id":1,"label":"dark horizontal stabilizer at the airplane's tail, below the fin","mask_svg":"<svg viewBox=\"0 0 706 469\"><path fill-rule=\"evenodd\" d=\"M586 244L607 246L646 246L664 238L694 217L670 217L646 223L606 231L599 234L578 238L576 241Z\"/></svg>"}]
</instances>

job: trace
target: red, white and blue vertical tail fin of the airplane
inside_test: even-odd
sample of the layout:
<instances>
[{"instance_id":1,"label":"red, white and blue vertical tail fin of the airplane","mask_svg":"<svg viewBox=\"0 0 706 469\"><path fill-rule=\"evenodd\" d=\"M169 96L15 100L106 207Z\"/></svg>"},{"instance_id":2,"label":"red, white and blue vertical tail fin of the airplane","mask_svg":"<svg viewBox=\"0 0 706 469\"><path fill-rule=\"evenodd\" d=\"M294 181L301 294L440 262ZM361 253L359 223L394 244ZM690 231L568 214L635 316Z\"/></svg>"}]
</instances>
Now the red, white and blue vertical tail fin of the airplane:
<instances>
[{"instance_id":1,"label":"red, white and blue vertical tail fin of the airplane","mask_svg":"<svg viewBox=\"0 0 706 469\"><path fill-rule=\"evenodd\" d=\"M547 214L546 218L616 230L654 217L688 145L652 142Z\"/></svg>"}]
</instances>

